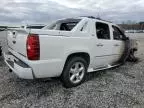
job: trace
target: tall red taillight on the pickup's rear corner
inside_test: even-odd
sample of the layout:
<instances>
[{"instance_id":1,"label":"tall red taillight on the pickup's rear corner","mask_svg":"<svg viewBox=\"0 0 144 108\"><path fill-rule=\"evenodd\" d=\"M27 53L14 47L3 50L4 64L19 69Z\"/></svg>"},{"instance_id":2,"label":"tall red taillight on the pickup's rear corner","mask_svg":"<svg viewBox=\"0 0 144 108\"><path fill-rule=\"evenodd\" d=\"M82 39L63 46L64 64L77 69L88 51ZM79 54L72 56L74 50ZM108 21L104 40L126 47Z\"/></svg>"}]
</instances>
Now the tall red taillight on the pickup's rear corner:
<instances>
[{"instance_id":1,"label":"tall red taillight on the pickup's rear corner","mask_svg":"<svg viewBox=\"0 0 144 108\"><path fill-rule=\"evenodd\" d=\"M27 57L29 60L40 59L40 43L37 34L29 34L27 37Z\"/></svg>"}]
</instances>

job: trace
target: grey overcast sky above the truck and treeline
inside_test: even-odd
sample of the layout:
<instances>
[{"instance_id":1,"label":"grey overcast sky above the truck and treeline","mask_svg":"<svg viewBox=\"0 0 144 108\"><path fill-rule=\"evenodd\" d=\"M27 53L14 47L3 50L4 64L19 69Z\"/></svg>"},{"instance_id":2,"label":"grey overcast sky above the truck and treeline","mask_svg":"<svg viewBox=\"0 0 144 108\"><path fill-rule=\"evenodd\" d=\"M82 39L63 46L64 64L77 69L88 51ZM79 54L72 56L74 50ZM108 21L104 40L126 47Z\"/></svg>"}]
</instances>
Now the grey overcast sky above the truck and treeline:
<instances>
[{"instance_id":1,"label":"grey overcast sky above the truck and treeline","mask_svg":"<svg viewBox=\"0 0 144 108\"><path fill-rule=\"evenodd\" d=\"M0 0L0 24L50 23L76 16L144 21L144 0Z\"/></svg>"}]
</instances>

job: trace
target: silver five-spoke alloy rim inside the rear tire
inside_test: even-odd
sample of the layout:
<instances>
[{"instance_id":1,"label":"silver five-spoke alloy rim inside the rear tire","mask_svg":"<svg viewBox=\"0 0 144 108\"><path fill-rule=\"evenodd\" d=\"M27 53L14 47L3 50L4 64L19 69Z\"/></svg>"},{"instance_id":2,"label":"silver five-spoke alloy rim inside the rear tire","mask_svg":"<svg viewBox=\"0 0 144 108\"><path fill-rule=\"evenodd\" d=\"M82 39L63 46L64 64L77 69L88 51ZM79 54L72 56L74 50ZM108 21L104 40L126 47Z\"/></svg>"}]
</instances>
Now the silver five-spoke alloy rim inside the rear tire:
<instances>
[{"instance_id":1,"label":"silver five-spoke alloy rim inside the rear tire","mask_svg":"<svg viewBox=\"0 0 144 108\"><path fill-rule=\"evenodd\" d=\"M72 83L79 83L85 73L85 67L82 62L75 62L69 70L69 78Z\"/></svg>"}]
</instances>

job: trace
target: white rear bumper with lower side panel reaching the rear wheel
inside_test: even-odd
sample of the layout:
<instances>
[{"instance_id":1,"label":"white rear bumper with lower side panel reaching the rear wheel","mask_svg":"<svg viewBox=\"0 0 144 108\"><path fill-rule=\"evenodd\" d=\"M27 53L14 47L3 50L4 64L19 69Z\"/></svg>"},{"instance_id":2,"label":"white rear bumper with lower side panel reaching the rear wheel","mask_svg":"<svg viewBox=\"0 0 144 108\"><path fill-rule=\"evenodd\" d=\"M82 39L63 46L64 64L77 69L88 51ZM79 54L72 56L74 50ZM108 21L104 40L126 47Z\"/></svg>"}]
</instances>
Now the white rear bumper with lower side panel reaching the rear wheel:
<instances>
[{"instance_id":1,"label":"white rear bumper with lower side panel reaching the rear wheel","mask_svg":"<svg viewBox=\"0 0 144 108\"><path fill-rule=\"evenodd\" d=\"M31 61L11 48L8 49L8 52L10 54L4 53L5 62L20 78L36 79L58 77L62 73L64 62L61 59ZM15 57L15 61L13 57ZM12 60L9 60L9 58L12 58ZM12 61L14 66L12 66L9 61Z\"/></svg>"}]
</instances>

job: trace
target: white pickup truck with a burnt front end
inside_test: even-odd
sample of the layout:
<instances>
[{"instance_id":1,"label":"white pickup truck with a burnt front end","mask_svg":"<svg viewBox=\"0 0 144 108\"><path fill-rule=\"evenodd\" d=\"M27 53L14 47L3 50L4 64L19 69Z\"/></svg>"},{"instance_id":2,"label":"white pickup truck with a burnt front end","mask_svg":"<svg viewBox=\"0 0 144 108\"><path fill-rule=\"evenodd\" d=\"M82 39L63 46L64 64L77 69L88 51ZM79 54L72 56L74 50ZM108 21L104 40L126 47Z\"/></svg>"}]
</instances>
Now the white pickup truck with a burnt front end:
<instances>
[{"instance_id":1,"label":"white pickup truck with a burnt front end","mask_svg":"<svg viewBox=\"0 0 144 108\"><path fill-rule=\"evenodd\" d=\"M65 87L84 82L87 72L120 65L137 48L117 25L94 17L11 29L7 40L4 58L11 71L24 79L60 76Z\"/></svg>"}]
</instances>

